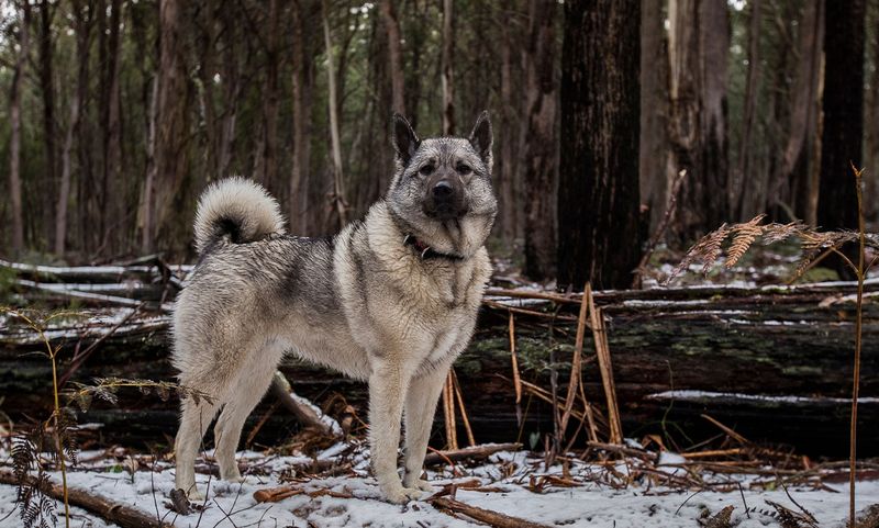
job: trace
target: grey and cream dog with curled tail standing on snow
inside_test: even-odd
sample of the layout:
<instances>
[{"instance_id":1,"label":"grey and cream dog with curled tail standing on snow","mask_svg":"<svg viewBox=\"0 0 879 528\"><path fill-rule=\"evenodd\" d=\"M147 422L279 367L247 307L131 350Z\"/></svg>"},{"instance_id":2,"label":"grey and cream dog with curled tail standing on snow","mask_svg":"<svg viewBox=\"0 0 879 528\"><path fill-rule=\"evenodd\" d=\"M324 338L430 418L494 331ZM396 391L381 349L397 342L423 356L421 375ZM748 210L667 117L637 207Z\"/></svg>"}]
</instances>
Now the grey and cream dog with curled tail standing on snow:
<instances>
[{"instance_id":1,"label":"grey and cream dog with curled tail standing on snow","mask_svg":"<svg viewBox=\"0 0 879 528\"><path fill-rule=\"evenodd\" d=\"M180 384L211 396L181 404L176 486L190 497L199 445L221 407L220 475L241 481L244 420L288 351L369 382L372 471L388 501L431 490L421 470L436 401L491 274L491 123L483 112L469 139L421 141L394 115L393 135L386 198L332 239L285 234L278 203L249 180L219 181L201 196L200 261L174 313Z\"/></svg>"}]
</instances>

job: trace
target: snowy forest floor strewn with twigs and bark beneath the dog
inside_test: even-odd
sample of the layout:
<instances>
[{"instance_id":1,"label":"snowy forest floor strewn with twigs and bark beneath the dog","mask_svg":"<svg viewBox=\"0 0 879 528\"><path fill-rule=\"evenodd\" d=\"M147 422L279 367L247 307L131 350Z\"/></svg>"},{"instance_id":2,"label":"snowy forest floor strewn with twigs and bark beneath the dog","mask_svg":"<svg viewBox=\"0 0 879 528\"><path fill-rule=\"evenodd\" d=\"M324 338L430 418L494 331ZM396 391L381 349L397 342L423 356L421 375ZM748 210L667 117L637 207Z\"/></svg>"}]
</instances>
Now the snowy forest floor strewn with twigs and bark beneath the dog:
<instances>
[{"instance_id":1,"label":"snowy forest floor strewn with twigs and bark beneath the dog","mask_svg":"<svg viewBox=\"0 0 879 528\"><path fill-rule=\"evenodd\" d=\"M124 450L86 451L68 473L70 486L133 506L179 528L193 527L468 527L483 526L467 515L454 514L430 497L399 506L382 502L368 471L368 452L359 442L337 443L316 457L238 453L245 483L218 481L210 473L211 452L200 459L200 490L210 488L203 507L189 515L171 509L174 467L166 460L135 456ZM303 468L321 461L323 474ZM481 463L457 464L429 472L429 481L452 492L458 503L545 526L570 527L843 527L848 512L847 483L821 482L767 485L755 474L702 474L702 486L669 485L688 470L683 459L665 452L652 478L638 471L638 459L604 463L569 458L549 468L536 454L501 451ZM0 451L0 465L11 463ZM299 470L297 470L299 469ZM344 470L340 474L340 469ZM454 473L453 473L454 472ZM334 474L335 476L327 476ZM641 474L631 481L631 475ZM60 481L53 472L52 479ZM668 479L667 476L671 476ZM630 482L631 481L631 482ZM655 485L655 482L661 482ZM290 485L292 496L258 503L259 490ZM15 487L0 485L0 527L21 526L15 510ZM443 493L441 492L439 495ZM879 480L858 484L857 508L871 516L864 526L879 526ZM63 506L56 504L57 510ZM732 508L732 509L731 509ZM724 513L725 512L725 513ZM869 512L869 513L868 513ZM100 517L73 508L70 526L102 528ZM711 524L717 517L728 521ZM725 520L725 519L723 519ZM59 519L60 521L60 519ZM60 525L63 526L63 521ZM499 526L499 525L496 525ZM522 526L521 524L509 526Z\"/></svg>"}]
</instances>

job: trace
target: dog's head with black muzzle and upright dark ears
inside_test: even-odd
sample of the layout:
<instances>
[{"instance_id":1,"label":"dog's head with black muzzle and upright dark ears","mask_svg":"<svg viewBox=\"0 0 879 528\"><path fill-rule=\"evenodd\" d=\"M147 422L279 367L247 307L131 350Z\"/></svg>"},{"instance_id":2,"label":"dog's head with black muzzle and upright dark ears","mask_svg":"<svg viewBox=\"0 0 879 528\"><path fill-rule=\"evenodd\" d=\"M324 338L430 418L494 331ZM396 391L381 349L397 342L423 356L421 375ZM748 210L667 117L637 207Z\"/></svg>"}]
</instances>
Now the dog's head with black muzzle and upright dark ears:
<instances>
[{"instance_id":1,"label":"dog's head with black muzzle and upright dark ears","mask_svg":"<svg viewBox=\"0 0 879 528\"><path fill-rule=\"evenodd\" d=\"M479 115L467 139L419 139L403 116L393 116L397 172L388 203L412 232L408 234L437 251L461 257L482 246L498 212L491 144L488 112Z\"/></svg>"}]
</instances>

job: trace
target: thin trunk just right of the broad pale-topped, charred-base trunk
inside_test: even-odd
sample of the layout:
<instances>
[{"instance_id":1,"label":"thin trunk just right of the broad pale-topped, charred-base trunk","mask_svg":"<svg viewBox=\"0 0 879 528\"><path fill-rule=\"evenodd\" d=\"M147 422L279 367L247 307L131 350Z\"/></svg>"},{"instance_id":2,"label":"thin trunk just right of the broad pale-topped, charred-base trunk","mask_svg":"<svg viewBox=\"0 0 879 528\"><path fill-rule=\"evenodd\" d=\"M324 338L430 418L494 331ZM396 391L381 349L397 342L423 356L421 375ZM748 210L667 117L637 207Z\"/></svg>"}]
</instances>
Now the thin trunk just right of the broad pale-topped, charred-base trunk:
<instances>
[{"instance_id":1,"label":"thin trunk just right of the broad pale-topped, charred-base trunk","mask_svg":"<svg viewBox=\"0 0 879 528\"><path fill-rule=\"evenodd\" d=\"M755 170L753 158L756 146L753 145L754 127L757 121L758 98L760 96L760 0L748 2L748 69L745 80L745 110L742 115L742 136L738 145L738 173L736 175L739 189L738 206L739 218L750 220L765 211L767 196L768 175Z\"/></svg>"}]
</instances>

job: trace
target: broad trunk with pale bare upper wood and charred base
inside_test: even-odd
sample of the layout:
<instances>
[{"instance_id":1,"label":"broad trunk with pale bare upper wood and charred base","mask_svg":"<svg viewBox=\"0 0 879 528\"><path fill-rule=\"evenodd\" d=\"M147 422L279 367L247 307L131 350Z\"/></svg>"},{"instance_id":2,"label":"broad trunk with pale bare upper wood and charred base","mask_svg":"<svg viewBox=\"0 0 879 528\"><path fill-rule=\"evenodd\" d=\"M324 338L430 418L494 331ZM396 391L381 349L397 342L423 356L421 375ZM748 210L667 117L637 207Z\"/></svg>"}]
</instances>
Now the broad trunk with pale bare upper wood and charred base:
<instances>
[{"instance_id":1,"label":"broad trunk with pale bare upper wood and charred base","mask_svg":"<svg viewBox=\"0 0 879 528\"><path fill-rule=\"evenodd\" d=\"M669 178L687 177L672 232L689 244L730 220L725 0L669 0ZM694 23L696 21L696 23Z\"/></svg>"}]
</instances>

